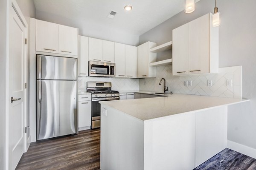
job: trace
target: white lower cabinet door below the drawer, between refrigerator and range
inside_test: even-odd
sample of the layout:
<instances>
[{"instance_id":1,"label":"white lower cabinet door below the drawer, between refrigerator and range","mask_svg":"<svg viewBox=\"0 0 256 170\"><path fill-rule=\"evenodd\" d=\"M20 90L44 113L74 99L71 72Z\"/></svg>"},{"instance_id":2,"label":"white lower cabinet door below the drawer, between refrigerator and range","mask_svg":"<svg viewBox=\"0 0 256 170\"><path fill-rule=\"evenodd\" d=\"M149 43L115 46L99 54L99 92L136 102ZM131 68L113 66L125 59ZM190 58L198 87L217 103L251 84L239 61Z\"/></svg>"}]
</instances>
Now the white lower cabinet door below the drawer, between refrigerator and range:
<instances>
[{"instance_id":1,"label":"white lower cabinet door below the drawer, between refrigerator and range","mask_svg":"<svg viewBox=\"0 0 256 170\"><path fill-rule=\"evenodd\" d=\"M91 101L79 102L79 127L91 125Z\"/></svg>"}]
</instances>

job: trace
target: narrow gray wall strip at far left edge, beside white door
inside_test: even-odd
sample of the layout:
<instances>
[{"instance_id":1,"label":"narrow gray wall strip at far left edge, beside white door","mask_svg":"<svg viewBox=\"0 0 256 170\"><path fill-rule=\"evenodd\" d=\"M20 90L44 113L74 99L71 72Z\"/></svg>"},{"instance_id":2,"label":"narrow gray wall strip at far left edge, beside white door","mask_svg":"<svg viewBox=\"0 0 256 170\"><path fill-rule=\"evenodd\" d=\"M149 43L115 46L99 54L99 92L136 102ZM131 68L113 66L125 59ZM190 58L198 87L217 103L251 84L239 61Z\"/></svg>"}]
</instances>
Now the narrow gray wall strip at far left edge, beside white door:
<instances>
[{"instance_id":1,"label":"narrow gray wall strip at far left edge, beside white door","mask_svg":"<svg viewBox=\"0 0 256 170\"><path fill-rule=\"evenodd\" d=\"M7 0L0 0L0 169L6 162L6 6Z\"/></svg>"}]
</instances>

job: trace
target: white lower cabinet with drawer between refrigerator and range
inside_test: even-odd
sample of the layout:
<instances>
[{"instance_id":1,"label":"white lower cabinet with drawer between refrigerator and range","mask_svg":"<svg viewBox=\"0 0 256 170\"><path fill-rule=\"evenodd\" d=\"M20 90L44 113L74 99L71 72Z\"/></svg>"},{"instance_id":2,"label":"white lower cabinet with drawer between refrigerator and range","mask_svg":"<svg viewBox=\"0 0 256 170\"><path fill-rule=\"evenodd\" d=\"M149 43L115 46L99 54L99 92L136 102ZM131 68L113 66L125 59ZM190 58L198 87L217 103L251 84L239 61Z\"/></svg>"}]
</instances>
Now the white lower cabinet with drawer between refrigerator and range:
<instances>
[{"instance_id":1,"label":"white lower cabinet with drawer between refrigerator and range","mask_svg":"<svg viewBox=\"0 0 256 170\"><path fill-rule=\"evenodd\" d=\"M79 131L90 129L91 126L91 95L79 95L78 115L79 115Z\"/></svg>"}]
</instances>

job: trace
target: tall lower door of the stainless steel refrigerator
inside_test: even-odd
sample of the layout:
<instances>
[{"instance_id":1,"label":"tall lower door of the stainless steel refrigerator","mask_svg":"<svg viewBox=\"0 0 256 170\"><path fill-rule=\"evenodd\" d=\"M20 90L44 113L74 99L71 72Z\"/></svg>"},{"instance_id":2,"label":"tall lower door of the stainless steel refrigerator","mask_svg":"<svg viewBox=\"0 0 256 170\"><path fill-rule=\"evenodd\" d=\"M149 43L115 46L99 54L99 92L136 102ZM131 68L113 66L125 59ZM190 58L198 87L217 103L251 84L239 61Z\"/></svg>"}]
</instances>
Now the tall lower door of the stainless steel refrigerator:
<instances>
[{"instance_id":1,"label":"tall lower door of the stainless steel refrigerator","mask_svg":"<svg viewBox=\"0 0 256 170\"><path fill-rule=\"evenodd\" d=\"M77 133L76 81L38 80L37 92L37 140Z\"/></svg>"}]
</instances>

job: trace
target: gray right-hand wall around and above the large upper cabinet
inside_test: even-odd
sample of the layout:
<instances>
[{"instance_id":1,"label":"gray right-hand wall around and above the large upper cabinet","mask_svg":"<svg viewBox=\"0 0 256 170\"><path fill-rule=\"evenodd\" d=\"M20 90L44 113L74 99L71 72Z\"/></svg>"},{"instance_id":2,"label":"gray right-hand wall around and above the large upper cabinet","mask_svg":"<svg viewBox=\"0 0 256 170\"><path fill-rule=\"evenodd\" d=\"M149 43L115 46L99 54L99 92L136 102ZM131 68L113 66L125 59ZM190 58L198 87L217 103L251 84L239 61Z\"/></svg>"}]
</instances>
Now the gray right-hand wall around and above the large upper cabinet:
<instances>
[{"instance_id":1,"label":"gray right-hand wall around and above the large upper cabinet","mask_svg":"<svg viewBox=\"0 0 256 170\"><path fill-rule=\"evenodd\" d=\"M141 35L140 44L171 41L172 29L213 12L214 3L214 0L199 1L192 14L181 11ZM242 65L243 98L251 100L229 107L228 139L256 149L256 1L218 0L217 6L221 12L219 67ZM168 53L171 55L171 51Z\"/></svg>"}]
</instances>

